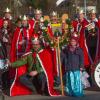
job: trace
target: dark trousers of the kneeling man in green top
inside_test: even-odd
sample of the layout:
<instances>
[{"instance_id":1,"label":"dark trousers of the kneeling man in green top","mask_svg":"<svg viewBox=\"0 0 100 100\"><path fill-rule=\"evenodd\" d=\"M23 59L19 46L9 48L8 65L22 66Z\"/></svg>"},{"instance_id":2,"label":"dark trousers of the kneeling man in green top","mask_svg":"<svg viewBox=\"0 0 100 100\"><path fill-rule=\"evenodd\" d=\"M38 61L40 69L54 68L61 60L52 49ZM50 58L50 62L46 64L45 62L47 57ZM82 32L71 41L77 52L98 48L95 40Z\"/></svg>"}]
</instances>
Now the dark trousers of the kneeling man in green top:
<instances>
[{"instance_id":1,"label":"dark trousers of the kneeling man in green top","mask_svg":"<svg viewBox=\"0 0 100 100\"><path fill-rule=\"evenodd\" d=\"M42 94L44 91L47 90L46 85L46 76L44 73L39 73L38 75L32 77L28 73L20 76L20 82L28 87L33 93L40 93Z\"/></svg>"}]
</instances>

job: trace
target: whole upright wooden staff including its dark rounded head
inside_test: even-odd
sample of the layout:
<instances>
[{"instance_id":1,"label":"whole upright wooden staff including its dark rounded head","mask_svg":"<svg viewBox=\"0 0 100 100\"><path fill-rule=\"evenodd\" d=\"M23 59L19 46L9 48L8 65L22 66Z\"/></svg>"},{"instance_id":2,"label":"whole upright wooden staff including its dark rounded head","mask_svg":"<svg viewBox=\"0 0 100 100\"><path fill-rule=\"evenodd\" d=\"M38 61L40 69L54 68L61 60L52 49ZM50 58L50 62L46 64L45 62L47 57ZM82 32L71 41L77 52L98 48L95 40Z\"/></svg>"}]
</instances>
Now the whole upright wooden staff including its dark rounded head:
<instances>
[{"instance_id":1,"label":"whole upright wooden staff including its dark rounded head","mask_svg":"<svg viewBox=\"0 0 100 100\"><path fill-rule=\"evenodd\" d=\"M62 95L64 95L62 66L61 66L61 59L60 59L60 35L61 35L61 33L59 32L58 29L56 29L55 35L56 35L55 37L57 37L57 55L58 55L58 65L60 68L61 93L62 93Z\"/></svg>"}]
</instances>

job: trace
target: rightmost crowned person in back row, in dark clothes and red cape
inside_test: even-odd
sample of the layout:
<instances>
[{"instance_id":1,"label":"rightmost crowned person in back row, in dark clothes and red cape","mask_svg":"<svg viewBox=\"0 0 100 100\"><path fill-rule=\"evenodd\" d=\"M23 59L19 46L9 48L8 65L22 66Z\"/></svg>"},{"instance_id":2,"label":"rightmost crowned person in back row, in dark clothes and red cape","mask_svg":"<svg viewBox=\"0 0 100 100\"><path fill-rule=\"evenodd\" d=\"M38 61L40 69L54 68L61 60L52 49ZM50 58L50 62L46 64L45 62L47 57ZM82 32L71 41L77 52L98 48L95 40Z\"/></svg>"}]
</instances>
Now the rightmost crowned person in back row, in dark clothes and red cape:
<instances>
[{"instance_id":1,"label":"rightmost crowned person in back row, in dark clothes and red cape","mask_svg":"<svg viewBox=\"0 0 100 100\"><path fill-rule=\"evenodd\" d=\"M100 60L100 20L96 17L96 11L91 10L89 14L89 25L86 32L86 44L89 51L91 65L97 64Z\"/></svg>"}]
</instances>

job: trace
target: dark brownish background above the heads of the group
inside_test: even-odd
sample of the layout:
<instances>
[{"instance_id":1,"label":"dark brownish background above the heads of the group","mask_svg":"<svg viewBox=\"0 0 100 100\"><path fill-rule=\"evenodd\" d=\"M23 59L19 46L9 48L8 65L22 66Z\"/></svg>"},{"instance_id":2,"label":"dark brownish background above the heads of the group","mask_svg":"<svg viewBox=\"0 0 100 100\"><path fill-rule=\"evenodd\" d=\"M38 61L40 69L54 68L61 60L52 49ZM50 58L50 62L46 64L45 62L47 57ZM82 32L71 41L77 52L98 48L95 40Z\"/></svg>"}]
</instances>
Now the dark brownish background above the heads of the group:
<instances>
[{"instance_id":1,"label":"dark brownish background above the heads of the group","mask_svg":"<svg viewBox=\"0 0 100 100\"><path fill-rule=\"evenodd\" d=\"M18 1L20 3L18 3ZM6 7L12 10L13 17L25 14L29 11L33 12L36 8L41 8L44 15L58 11L59 15L68 13L73 16L77 12L77 7L84 7L84 0L65 0L58 7L57 0L0 0L0 16L3 16L3 11ZM100 13L100 0L86 0L87 6L96 6L97 14ZM30 7L31 6L31 7Z\"/></svg>"}]
</instances>

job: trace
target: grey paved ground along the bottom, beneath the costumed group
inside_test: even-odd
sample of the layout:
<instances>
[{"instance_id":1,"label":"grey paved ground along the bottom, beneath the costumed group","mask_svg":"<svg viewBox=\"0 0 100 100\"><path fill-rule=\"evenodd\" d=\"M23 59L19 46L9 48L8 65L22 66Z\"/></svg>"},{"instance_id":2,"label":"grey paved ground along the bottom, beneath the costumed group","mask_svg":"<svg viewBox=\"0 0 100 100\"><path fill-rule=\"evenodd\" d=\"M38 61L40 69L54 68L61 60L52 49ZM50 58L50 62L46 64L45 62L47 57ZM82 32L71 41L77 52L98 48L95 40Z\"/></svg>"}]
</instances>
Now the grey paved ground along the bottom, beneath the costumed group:
<instances>
[{"instance_id":1,"label":"grey paved ground along the bottom, beneath the costumed group","mask_svg":"<svg viewBox=\"0 0 100 100\"><path fill-rule=\"evenodd\" d=\"M85 95L83 97L27 95L15 97L5 96L4 99L0 98L0 100L100 100L100 90L85 90Z\"/></svg>"}]
</instances>

